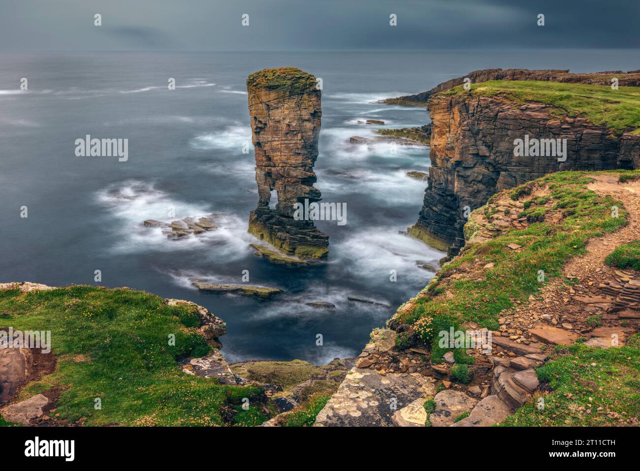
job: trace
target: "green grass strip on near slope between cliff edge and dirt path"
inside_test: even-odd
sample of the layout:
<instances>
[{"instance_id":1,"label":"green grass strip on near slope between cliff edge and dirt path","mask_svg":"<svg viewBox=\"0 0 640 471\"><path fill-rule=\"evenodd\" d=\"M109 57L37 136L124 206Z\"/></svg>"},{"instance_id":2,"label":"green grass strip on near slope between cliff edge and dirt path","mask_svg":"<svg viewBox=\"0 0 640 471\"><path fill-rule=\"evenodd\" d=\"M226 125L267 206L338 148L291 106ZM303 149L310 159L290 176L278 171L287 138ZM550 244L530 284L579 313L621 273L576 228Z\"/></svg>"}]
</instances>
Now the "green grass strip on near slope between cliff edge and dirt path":
<instances>
[{"instance_id":1,"label":"green grass strip on near slope between cliff edge and dirt path","mask_svg":"<svg viewBox=\"0 0 640 471\"><path fill-rule=\"evenodd\" d=\"M623 204L589 191L586 186L591 179L584 172L553 173L536 182L548 187L548 204L563 211L563 220L532 223L522 230L514 228L484 243L466 246L423 290L426 296L415 298L412 309L399 310L396 319L414 324L423 317L436 319L445 315L460 325L474 322L497 330L502 310L513 308L518 301L526 304L530 295L540 292L544 283L538 282L538 270L545 272L546 282L560 276L564 263L586 253L585 245L591 237L618 230L627 223ZM508 191L525 196L522 188ZM614 205L620 208L618 218L611 217ZM513 251L507 247L509 243L522 248ZM488 263L494 264L493 269L477 273L479 276L474 274L472 279L449 278L452 273L465 273L470 266ZM436 356L440 356L439 351Z\"/></svg>"}]
</instances>

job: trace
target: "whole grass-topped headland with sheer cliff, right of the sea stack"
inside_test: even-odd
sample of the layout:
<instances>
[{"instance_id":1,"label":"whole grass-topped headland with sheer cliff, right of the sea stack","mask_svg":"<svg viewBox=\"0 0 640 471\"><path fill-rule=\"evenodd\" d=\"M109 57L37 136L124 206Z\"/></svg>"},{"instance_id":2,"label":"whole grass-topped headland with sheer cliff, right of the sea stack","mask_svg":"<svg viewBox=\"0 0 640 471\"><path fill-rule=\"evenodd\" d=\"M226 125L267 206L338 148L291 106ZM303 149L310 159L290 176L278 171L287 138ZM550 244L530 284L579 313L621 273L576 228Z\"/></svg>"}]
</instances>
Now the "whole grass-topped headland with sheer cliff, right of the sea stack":
<instances>
[{"instance_id":1,"label":"whole grass-topped headland with sheer cliff, right of the sea stack","mask_svg":"<svg viewBox=\"0 0 640 471\"><path fill-rule=\"evenodd\" d=\"M640 166L640 118L625 111L640 105L640 93L622 88L640 84L639 72L490 69L468 77L470 90L458 77L387 100L424 104L432 120L428 188L418 221L408 229L413 237L455 254L468 213L497 191L561 170ZM613 77L618 90L611 89ZM516 156L514 141L525 135L566 140L566 159Z\"/></svg>"}]
</instances>

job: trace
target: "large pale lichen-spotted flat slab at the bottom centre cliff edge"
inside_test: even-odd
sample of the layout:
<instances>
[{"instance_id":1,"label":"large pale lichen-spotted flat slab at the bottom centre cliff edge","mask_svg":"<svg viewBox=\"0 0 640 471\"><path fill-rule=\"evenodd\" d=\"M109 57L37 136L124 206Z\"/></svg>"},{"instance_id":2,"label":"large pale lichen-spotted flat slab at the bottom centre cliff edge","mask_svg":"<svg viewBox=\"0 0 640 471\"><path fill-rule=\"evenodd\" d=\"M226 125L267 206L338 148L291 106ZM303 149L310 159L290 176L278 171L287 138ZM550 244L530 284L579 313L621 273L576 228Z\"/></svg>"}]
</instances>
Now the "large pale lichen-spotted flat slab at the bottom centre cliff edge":
<instances>
[{"instance_id":1,"label":"large pale lichen-spotted flat slab at the bottom centre cliff edge","mask_svg":"<svg viewBox=\"0 0 640 471\"><path fill-rule=\"evenodd\" d=\"M419 373L382 376L375 370L352 368L317 415L314 426L393 426L394 411L418 399L424 403L433 396L434 389L429 379ZM392 401L397 410L392 408Z\"/></svg>"}]
</instances>

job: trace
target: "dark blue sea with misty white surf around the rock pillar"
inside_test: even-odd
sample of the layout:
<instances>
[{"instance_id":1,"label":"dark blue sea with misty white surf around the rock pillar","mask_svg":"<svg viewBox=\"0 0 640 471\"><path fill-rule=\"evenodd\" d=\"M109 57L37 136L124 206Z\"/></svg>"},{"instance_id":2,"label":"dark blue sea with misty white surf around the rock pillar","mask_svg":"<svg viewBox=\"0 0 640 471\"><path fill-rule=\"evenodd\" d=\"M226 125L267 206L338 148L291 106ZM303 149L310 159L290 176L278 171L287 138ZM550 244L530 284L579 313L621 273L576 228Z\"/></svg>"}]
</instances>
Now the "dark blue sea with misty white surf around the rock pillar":
<instances>
[{"instance_id":1,"label":"dark blue sea with misty white surf around the rock pillar","mask_svg":"<svg viewBox=\"0 0 640 471\"><path fill-rule=\"evenodd\" d=\"M421 108L383 106L386 97L428 90L470 70L571 68L573 72L640 68L637 51L49 53L0 55L0 282L129 286L163 298L189 299L227 322L221 340L230 361L301 358L325 363L353 356L376 326L414 296L433 273L417 260L444 253L398 234L417 220L428 149L349 144L376 127L426 124ZM330 256L290 268L253 255L246 233L257 203L244 81L266 67L300 67L323 79L316 188L345 202L344 226L319 221ZM28 91L20 92L21 77ZM175 77L177 90L167 90ZM380 126L378 126L380 127ZM76 157L74 141L128 138L129 160ZM20 207L28 218L20 218ZM147 219L223 212L221 227L170 241ZM260 301L204 294L191 278L280 287ZM397 282L390 282L390 271ZM390 307L349 303L364 296ZM308 307L329 301L335 310ZM316 346L316 335L323 346Z\"/></svg>"}]
</instances>

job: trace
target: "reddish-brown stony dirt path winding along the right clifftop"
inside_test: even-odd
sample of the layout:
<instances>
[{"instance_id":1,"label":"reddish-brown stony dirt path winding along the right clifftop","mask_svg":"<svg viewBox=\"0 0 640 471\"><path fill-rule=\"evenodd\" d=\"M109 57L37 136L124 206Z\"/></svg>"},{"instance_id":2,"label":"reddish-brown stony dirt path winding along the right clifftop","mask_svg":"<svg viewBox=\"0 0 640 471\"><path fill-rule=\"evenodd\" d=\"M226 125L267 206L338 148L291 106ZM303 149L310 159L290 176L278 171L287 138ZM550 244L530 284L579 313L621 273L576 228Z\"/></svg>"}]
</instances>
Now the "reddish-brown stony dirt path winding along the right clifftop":
<instances>
[{"instance_id":1,"label":"reddish-brown stony dirt path winding along the right clifftop","mask_svg":"<svg viewBox=\"0 0 640 471\"><path fill-rule=\"evenodd\" d=\"M540 323L561 328L569 335L579 333L586 337L608 336L612 329L627 333L638 330L640 320L620 311L630 303L632 310L638 309L632 298L640 295L640 287L634 287L640 274L614 269L604 260L620 244L640 239L640 181L622 184L617 174L589 177L594 179L589 189L623 203L628 211L628 224L616 232L591 239L586 246L587 253L564 266L564 275L573 278L575 284L566 285L563 278L548 283L541 294L529 298L527 305L514 308L500 319L501 324L504 321L503 332L527 331Z\"/></svg>"}]
</instances>

